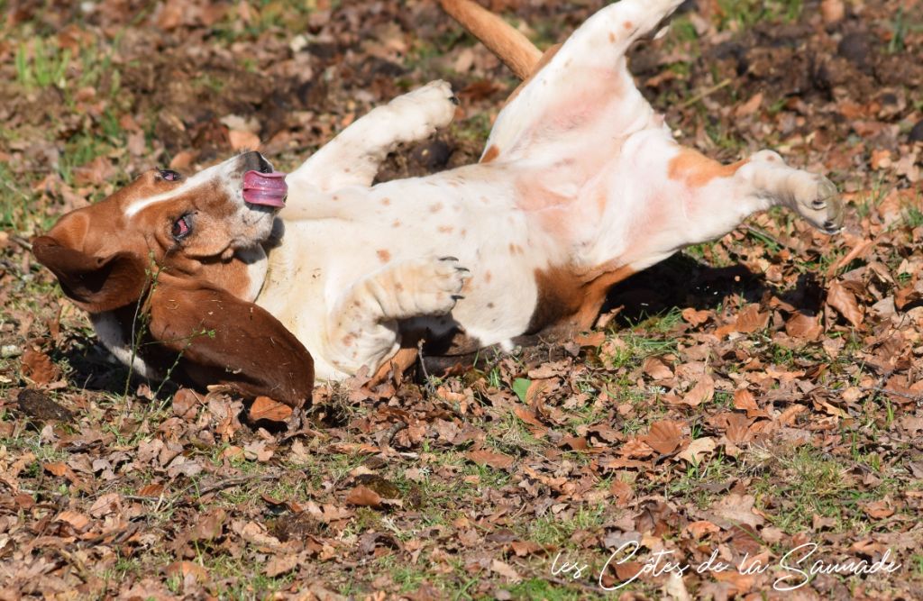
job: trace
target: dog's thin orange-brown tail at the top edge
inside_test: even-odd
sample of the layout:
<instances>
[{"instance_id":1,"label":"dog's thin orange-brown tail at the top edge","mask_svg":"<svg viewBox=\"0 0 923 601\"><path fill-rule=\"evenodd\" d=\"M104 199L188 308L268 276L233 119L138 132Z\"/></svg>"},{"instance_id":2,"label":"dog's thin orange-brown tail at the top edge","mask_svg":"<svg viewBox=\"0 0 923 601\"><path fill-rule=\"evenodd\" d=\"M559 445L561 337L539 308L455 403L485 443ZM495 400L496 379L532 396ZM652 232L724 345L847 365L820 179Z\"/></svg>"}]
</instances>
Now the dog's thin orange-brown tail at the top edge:
<instances>
[{"instance_id":1,"label":"dog's thin orange-brown tail at the top edge","mask_svg":"<svg viewBox=\"0 0 923 601\"><path fill-rule=\"evenodd\" d=\"M532 74L542 51L520 31L473 0L439 0L439 4L490 52L497 54L516 77L525 79Z\"/></svg>"}]
</instances>

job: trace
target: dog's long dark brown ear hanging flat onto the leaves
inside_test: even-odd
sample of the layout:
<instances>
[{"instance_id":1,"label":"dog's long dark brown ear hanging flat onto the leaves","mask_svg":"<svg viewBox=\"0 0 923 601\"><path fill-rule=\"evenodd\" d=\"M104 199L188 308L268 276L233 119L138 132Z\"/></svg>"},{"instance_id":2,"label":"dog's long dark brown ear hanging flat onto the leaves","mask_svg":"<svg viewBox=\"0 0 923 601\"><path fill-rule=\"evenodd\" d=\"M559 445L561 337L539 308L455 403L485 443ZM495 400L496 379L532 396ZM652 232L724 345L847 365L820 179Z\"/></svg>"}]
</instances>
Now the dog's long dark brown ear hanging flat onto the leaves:
<instances>
[{"instance_id":1,"label":"dog's long dark brown ear hanging flat onto the leaves","mask_svg":"<svg viewBox=\"0 0 923 601\"><path fill-rule=\"evenodd\" d=\"M265 309L233 294L161 274L150 295L150 334L181 354L200 386L229 385L300 407L311 398L314 360Z\"/></svg>"}]
</instances>

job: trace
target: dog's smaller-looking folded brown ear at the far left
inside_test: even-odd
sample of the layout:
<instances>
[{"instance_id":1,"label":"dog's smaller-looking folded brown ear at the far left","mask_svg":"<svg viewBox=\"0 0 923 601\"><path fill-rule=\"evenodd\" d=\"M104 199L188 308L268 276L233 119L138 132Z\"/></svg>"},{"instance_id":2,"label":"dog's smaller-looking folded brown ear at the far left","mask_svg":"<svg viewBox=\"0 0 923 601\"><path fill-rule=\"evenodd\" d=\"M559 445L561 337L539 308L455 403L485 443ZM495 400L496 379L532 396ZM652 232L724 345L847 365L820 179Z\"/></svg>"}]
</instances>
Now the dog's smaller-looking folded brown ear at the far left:
<instances>
[{"instance_id":1,"label":"dog's smaller-looking folded brown ear at the far left","mask_svg":"<svg viewBox=\"0 0 923 601\"><path fill-rule=\"evenodd\" d=\"M148 281L142 259L133 253L90 257L49 235L34 238L32 252L57 276L64 293L90 313L136 302Z\"/></svg>"}]
</instances>

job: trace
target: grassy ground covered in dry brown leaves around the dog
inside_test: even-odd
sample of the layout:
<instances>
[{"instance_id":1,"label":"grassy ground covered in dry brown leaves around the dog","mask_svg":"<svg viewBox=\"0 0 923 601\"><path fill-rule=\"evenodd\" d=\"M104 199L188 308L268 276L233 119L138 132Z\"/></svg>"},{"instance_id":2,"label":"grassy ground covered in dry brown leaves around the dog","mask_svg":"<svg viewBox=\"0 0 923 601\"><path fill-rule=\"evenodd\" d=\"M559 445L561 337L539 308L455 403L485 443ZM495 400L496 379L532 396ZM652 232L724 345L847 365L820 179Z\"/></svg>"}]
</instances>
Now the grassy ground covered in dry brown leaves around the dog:
<instances>
[{"instance_id":1,"label":"grassy ground covered in dry brown leaves around the dog","mask_svg":"<svg viewBox=\"0 0 923 601\"><path fill-rule=\"evenodd\" d=\"M489 4L546 47L604 3ZM433 78L456 123L381 177L472 162L516 81L428 1L0 2L0 597L920 598L923 3L688 4L643 93L710 156L829 174L845 232L755 216L576 340L320 387L287 433L129 379L30 236L151 166L293 168ZM774 591L799 547L893 570Z\"/></svg>"}]
</instances>

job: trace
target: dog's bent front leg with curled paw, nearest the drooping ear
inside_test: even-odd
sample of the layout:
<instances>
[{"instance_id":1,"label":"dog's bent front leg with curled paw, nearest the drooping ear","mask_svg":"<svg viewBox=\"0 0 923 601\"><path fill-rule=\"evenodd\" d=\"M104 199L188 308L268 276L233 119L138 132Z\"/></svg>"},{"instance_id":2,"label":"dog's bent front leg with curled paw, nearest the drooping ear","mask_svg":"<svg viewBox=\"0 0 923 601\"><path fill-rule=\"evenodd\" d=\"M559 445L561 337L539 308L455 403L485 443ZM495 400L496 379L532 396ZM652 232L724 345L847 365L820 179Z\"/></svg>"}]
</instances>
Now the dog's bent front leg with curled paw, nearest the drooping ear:
<instances>
[{"instance_id":1,"label":"dog's bent front leg with curled paw, nearest the drooping ear","mask_svg":"<svg viewBox=\"0 0 923 601\"><path fill-rule=\"evenodd\" d=\"M467 277L444 257L399 261L356 282L330 312L323 358L347 374L374 373L400 348L398 322L450 313Z\"/></svg>"}]
</instances>

